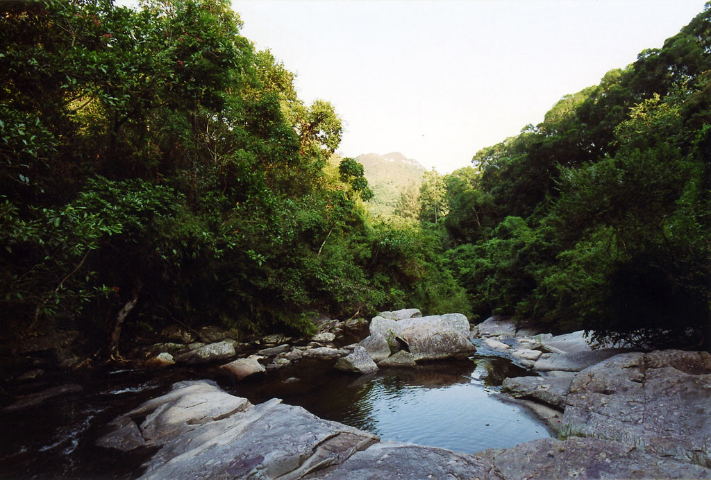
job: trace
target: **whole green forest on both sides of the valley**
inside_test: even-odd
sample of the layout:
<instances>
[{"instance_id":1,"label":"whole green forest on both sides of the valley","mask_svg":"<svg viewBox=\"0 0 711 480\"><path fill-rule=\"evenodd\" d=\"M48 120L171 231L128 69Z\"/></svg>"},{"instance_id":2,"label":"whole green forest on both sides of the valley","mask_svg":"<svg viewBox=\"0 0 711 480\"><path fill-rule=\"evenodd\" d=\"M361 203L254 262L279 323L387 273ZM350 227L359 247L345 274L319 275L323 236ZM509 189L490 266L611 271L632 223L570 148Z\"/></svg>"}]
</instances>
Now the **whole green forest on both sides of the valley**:
<instances>
[{"instance_id":1,"label":"whole green forest on both sides of the valley","mask_svg":"<svg viewBox=\"0 0 711 480\"><path fill-rule=\"evenodd\" d=\"M6 342L74 330L118 359L176 322L247 337L418 307L710 345L711 2L387 218L333 106L227 0L0 10Z\"/></svg>"}]
</instances>

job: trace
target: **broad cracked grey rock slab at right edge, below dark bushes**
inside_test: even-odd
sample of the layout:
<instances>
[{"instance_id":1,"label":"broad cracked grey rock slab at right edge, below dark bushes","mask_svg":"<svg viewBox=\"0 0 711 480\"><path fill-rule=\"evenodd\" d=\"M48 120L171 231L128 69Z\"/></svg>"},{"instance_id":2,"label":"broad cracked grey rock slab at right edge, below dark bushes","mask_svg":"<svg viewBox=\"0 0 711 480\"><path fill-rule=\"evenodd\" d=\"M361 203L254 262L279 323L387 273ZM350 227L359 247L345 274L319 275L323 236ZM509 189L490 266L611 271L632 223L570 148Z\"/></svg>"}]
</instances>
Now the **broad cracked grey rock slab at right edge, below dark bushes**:
<instances>
[{"instance_id":1,"label":"broad cracked grey rock slab at right edge, below dark bushes","mask_svg":"<svg viewBox=\"0 0 711 480\"><path fill-rule=\"evenodd\" d=\"M620 354L577 373L563 424L570 435L616 440L711 467L711 355Z\"/></svg>"}]
</instances>

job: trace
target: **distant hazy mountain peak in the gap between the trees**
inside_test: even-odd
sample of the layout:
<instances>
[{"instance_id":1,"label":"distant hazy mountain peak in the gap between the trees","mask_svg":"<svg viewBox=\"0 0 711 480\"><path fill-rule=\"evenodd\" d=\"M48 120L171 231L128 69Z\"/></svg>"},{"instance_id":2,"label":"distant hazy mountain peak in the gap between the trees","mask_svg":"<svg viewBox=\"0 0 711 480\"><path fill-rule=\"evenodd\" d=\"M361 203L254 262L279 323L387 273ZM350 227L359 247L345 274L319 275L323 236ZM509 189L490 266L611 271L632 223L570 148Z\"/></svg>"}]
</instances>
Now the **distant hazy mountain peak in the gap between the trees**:
<instances>
[{"instance_id":1,"label":"distant hazy mountain peak in the gap between the trees","mask_svg":"<svg viewBox=\"0 0 711 480\"><path fill-rule=\"evenodd\" d=\"M400 152L385 155L364 153L356 160L363 164L365 178L375 195L373 200L370 200L370 212L373 214L389 217L395 209L400 193L419 193L425 168L417 160L407 158Z\"/></svg>"}]
</instances>

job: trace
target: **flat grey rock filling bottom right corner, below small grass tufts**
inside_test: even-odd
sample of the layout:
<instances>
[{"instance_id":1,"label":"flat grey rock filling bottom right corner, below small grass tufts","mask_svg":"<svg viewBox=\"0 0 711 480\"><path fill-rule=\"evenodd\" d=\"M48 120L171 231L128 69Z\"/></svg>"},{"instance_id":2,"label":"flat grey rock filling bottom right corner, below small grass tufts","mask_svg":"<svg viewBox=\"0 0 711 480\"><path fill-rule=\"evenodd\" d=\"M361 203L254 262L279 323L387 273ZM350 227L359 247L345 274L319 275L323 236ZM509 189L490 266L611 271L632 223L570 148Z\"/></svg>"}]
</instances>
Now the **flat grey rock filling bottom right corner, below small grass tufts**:
<instances>
[{"instance_id":1,"label":"flat grey rock filling bottom right corner, below small grass tufts","mask_svg":"<svg viewBox=\"0 0 711 480\"><path fill-rule=\"evenodd\" d=\"M595 438L546 438L476 455L491 459L507 480L711 479L709 469Z\"/></svg>"}]
</instances>

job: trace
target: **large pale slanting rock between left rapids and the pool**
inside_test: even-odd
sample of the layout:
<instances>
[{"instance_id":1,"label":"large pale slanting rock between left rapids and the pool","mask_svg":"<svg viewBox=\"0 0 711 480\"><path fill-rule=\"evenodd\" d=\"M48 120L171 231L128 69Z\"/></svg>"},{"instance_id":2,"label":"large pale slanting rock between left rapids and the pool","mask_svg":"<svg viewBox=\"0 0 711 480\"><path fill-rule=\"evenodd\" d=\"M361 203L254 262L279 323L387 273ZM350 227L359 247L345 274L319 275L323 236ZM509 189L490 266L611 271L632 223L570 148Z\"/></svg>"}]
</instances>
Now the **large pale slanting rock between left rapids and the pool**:
<instances>
[{"instance_id":1,"label":"large pale slanting rock between left rapids and the pool","mask_svg":"<svg viewBox=\"0 0 711 480\"><path fill-rule=\"evenodd\" d=\"M296 480L378 440L278 399L251 405L208 381L177 383L126 416L141 415L146 447L160 447L144 464L144 480Z\"/></svg>"}]
</instances>

